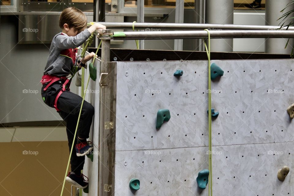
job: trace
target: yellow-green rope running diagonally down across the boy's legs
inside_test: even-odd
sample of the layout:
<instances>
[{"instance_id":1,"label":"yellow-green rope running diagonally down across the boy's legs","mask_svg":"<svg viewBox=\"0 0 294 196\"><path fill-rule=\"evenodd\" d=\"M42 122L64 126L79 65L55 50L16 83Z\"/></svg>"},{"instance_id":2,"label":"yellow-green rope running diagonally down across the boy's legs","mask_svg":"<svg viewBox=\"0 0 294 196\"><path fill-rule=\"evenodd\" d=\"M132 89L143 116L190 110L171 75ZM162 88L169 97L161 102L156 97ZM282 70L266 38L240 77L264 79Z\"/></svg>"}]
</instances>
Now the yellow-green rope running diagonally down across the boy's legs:
<instances>
[{"instance_id":1,"label":"yellow-green rope running diagonally down across the boy's legs","mask_svg":"<svg viewBox=\"0 0 294 196\"><path fill-rule=\"evenodd\" d=\"M92 38L91 38L91 36L92 36ZM82 50L82 53L81 53L82 57L85 56L85 53L86 53L87 47L88 47L89 44L92 43L92 41L93 41L93 33L91 34L91 36L90 36L89 39L87 40L87 44L86 44L86 46L83 47L83 50ZM97 54L98 50L99 50L99 47L98 47L97 50L96 50L96 54ZM95 55L95 57L96 57L96 55ZM94 62L94 60L95 60L95 58L93 59L93 62ZM83 73L82 73L82 74L83 74ZM90 81L90 76L88 77L87 85L86 85L85 91L82 91L82 97L83 97L83 100L82 100L82 103L81 103L81 109L80 109L79 117L78 117L78 119L77 119L77 126L76 126L76 130L75 130L75 132L74 132L74 140L73 140L73 141L75 141L75 138L76 138L76 135L77 135L77 127L78 127L78 125L79 125L79 121L80 121L80 118L81 118L81 112L82 112L83 104L84 104L84 101L85 101L85 96L86 96L86 91L87 91L87 89L88 89L89 81ZM83 77L83 76L82 76L82 86L84 86L84 77ZM84 90L84 89L83 89L83 90ZM62 194L63 194L64 185L65 185L65 180L66 180L66 176L67 176L67 171L68 171L68 168L69 168L69 165L70 165L70 157L71 157L72 152L73 152L73 147L74 147L74 142L73 142L72 145L71 145L70 156L69 156L69 158L68 158L67 167L66 167L66 172L65 172L65 176L64 176L64 180L63 180L62 190L61 190L61 194L60 194L60 196L62 196ZM81 192L81 191L80 191L80 192Z\"/></svg>"}]
</instances>

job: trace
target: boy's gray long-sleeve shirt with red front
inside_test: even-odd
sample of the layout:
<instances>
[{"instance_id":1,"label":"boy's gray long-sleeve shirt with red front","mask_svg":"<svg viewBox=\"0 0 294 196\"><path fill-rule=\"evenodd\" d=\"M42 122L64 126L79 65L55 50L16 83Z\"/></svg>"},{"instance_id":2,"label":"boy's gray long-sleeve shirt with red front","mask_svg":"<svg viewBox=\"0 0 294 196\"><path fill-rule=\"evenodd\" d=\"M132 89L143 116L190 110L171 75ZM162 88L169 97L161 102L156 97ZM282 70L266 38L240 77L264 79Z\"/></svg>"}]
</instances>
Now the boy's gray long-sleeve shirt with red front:
<instances>
[{"instance_id":1,"label":"boy's gray long-sleeve shirt with red front","mask_svg":"<svg viewBox=\"0 0 294 196\"><path fill-rule=\"evenodd\" d=\"M45 67L44 75L67 76L70 74L77 58L77 48L81 46L91 33L85 29L76 36L58 33L54 36Z\"/></svg>"}]
</instances>

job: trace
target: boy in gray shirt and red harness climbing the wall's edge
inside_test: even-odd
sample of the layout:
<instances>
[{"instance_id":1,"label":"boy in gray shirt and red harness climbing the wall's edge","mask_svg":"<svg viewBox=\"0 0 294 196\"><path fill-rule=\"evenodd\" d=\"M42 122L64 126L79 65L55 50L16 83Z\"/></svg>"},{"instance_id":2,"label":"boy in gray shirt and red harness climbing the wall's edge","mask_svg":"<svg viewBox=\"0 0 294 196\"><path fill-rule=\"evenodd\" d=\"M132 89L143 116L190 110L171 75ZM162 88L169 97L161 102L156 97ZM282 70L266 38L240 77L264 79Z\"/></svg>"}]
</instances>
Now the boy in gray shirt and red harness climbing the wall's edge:
<instances>
[{"instance_id":1,"label":"boy in gray shirt and red harness climbing the wall's edge","mask_svg":"<svg viewBox=\"0 0 294 196\"><path fill-rule=\"evenodd\" d=\"M43 101L48 106L55 107L66 122L66 134L70 150L74 142L76 153L72 153L70 157L71 171L66 177L66 182L78 188L86 188L88 186L86 181L88 180L84 179L81 170L84 167L85 155L93 149L88 145L86 139L89 138L94 107L84 101L77 128L77 137L74 140L82 98L70 92L69 85L71 75L74 74L72 70L76 63L77 47L82 45L96 29L106 29L106 27L95 23L87 29L87 17L75 7L66 8L62 11L59 18L59 27L62 32L55 35L51 42L47 64L41 80L43 84L41 94ZM78 70L85 67L85 63L94 56L95 53L91 52L81 62L78 61Z\"/></svg>"}]
</instances>

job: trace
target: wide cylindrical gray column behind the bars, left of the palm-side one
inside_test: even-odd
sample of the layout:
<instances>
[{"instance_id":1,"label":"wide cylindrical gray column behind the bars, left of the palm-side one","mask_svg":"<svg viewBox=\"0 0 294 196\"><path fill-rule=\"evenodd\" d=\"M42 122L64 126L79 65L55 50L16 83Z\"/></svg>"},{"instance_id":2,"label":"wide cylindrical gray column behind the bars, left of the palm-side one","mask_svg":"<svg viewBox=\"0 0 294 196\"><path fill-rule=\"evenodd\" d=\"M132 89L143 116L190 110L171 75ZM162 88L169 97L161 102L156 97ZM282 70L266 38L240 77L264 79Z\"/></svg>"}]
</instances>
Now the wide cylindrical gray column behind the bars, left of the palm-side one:
<instances>
[{"instance_id":1,"label":"wide cylindrical gray column behind the bars, left of the palm-side one","mask_svg":"<svg viewBox=\"0 0 294 196\"><path fill-rule=\"evenodd\" d=\"M205 4L205 22L215 24L233 24L233 12L233 0L208 0ZM211 40L211 51L232 52L233 39Z\"/></svg>"}]
</instances>

